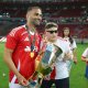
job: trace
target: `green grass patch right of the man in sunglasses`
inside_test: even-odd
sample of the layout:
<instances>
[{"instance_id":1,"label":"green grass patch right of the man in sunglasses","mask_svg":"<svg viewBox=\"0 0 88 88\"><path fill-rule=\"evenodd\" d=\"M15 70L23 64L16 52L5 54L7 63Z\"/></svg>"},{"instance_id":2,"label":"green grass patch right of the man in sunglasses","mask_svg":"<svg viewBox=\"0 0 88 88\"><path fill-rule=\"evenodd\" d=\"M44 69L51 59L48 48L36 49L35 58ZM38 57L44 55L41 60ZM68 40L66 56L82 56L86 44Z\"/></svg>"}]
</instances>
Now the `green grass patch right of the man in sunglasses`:
<instances>
[{"instance_id":1,"label":"green grass patch right of the man in sunglasses","mask_svg":"<svg viewBox=\"0 0 88 88\"><path fill-rule=\"evenodd\" d=\"M81 54L88 44L78 44L77 58L78 64L73 65L70 72L70 88L88 88L88 79L85 78L86 63L81 62Z\"/></svg>"}]
</instances>

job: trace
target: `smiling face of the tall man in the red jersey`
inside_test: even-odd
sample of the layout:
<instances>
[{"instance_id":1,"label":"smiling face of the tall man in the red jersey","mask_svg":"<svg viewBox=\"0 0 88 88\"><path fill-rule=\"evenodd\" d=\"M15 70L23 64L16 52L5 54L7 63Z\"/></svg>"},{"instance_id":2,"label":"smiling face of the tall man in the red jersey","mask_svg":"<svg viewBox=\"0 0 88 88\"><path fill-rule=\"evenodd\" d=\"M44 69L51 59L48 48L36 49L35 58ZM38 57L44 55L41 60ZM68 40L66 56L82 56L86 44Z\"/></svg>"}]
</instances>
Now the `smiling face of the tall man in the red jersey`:
<instances>
[{"instance_id":1,"label":"smiling face of the tall man in the red jersey","mask_svg":"<svg viewBox=\"0 0 88 88\"><path fill-rule=\"evenodd\" d=\"M42 11L41 11L41 9L32 9L30 12L28 12L26 20L28 20L29 24L40 25L40 23L42 21Z\"/></svg>"}]
</instances>

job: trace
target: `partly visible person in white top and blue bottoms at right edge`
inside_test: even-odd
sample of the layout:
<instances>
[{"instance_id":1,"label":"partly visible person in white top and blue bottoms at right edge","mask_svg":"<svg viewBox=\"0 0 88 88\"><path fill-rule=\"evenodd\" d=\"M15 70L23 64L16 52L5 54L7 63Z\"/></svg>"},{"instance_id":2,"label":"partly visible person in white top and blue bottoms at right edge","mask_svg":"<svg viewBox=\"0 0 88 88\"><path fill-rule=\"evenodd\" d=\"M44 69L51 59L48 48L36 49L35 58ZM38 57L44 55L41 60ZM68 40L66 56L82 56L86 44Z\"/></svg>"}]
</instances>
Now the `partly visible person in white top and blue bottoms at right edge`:
<instances>
[{"instance_id":1,"label":"partly visible person in white top and blue bottoms at right edge","mask_svg":"<svg viewBox=\"0 0 88 88\"><path fill-rule=\"evenodd\" d=\"M88 78L88 47L84 51L84 53L81 55L81 61L86 63L85 77Z\"/></svg>"}]
</instances>

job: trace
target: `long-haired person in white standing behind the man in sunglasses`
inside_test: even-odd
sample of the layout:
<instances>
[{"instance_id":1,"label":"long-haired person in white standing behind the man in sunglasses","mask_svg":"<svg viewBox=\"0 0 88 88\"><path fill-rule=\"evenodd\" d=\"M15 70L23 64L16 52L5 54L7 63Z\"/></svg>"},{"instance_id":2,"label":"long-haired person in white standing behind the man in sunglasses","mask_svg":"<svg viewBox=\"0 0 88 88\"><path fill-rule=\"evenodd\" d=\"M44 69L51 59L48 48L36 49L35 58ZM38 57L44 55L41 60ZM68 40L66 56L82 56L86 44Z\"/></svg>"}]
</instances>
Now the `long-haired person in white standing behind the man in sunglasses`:
<instances>
[{"instance_id":1,"label":"long-haired person in white standing behind the man in sunglasses","mask_svg":"<svg viewBox=\"0 0 88 88\"><path fill-rule=\"evenodd\" d=\"M77 45L76 45L76 41L70 35L69 28L64 28L63 29L63 38L69 44L70 51L74 54L73 61L72 59L70 61L67 61L67 67L68 67L68 70L70 72L73 62L75 64L77 64L77 52L76 52Z\"/></svg>"}]
</instances>

